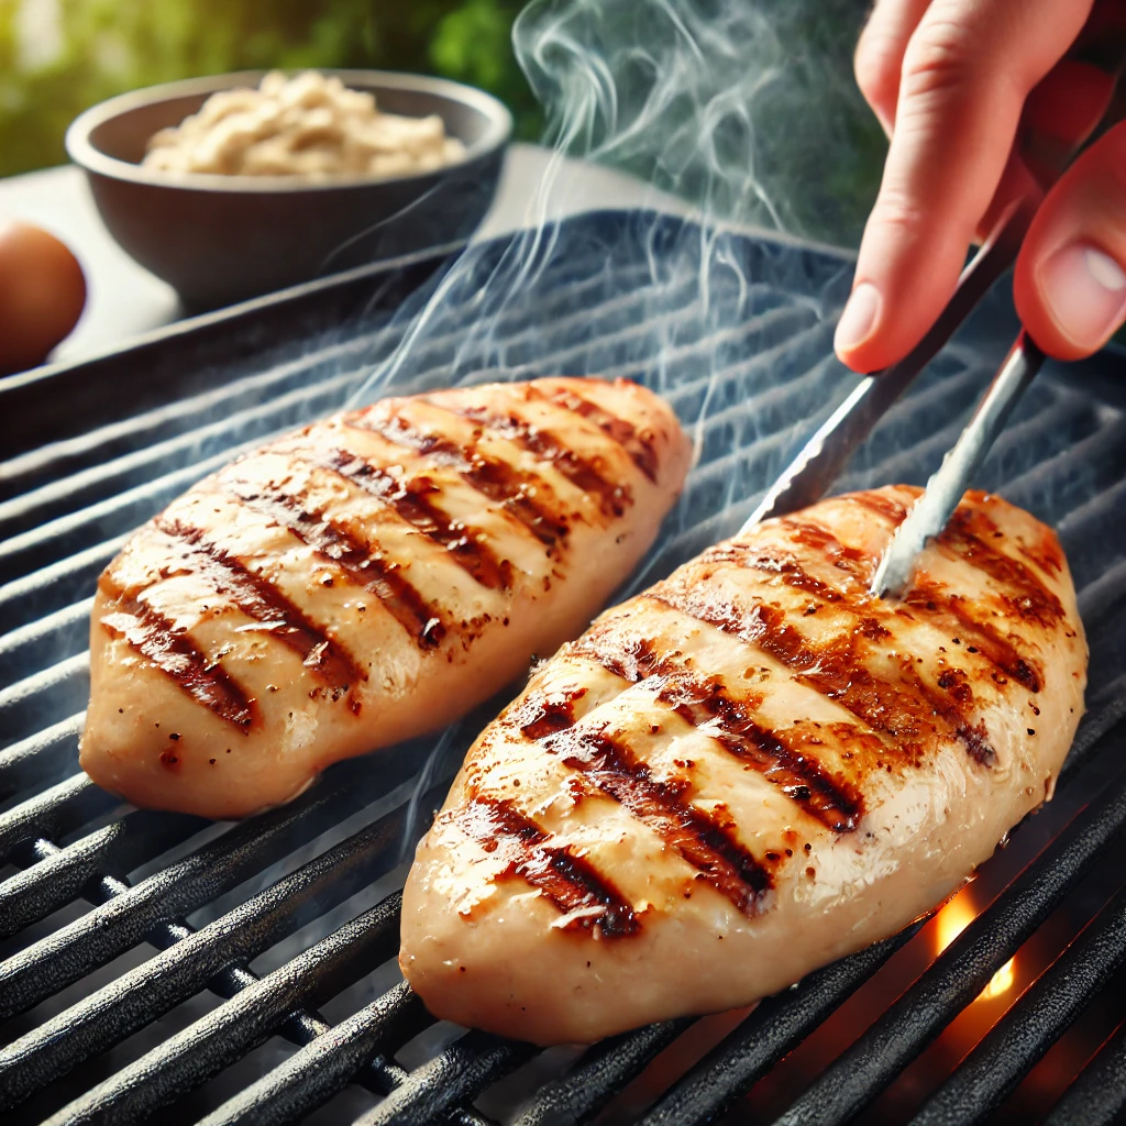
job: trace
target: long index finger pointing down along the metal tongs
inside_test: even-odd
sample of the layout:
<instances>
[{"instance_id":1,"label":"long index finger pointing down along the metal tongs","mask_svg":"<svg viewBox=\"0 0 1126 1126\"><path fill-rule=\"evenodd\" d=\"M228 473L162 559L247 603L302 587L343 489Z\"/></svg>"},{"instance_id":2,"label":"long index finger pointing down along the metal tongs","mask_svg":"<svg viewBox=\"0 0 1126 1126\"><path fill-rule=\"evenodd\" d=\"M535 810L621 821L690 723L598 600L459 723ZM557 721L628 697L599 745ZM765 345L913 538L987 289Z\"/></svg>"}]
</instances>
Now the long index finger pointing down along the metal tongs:
<instances>
[{"instance_id":1,"label":"long index finger pointing down along the metal tongs","mask_svg":"<svg viewBox=\"0 0 1126 1126\"><path fill-rule=\"evenodd\" d=\"M904 54L884 178L837 330L850 367L872 372L904 356L949 300L1025 97L1089 7L933 0L927 9Z\"/></svg>"}]
</instances>

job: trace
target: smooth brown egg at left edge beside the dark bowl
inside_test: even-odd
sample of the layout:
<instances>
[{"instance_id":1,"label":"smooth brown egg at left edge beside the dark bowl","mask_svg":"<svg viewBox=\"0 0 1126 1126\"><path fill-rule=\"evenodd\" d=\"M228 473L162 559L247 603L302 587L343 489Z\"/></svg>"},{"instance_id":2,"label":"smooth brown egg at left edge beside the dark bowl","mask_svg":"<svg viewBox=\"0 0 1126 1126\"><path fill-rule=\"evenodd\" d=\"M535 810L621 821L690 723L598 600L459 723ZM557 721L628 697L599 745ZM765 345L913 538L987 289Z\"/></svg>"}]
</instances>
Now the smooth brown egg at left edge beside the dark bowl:
<instances>
[{"instance_id":1,"label":"smooth brown egg at left edge beside the dark bowl","mask_svg":"<svg viewBox=\"0 0 1126 1126\"><path fill-rule=\"evenodd\" d=\"M0 220L0 375L42 364L84 304L86 278L68 247L30 223Z\"/></svg>"}]
</instances>

